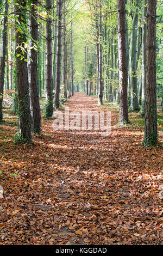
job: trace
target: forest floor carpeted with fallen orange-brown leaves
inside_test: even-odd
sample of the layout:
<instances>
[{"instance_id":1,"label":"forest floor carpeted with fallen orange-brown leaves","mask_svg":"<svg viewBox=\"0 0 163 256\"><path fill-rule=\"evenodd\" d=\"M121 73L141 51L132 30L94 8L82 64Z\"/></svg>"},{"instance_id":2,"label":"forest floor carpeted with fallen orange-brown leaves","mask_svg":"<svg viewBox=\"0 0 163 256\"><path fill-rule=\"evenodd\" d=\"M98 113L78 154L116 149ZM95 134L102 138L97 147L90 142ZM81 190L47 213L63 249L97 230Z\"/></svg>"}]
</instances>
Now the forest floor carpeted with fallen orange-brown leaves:
<instances>
[{"instance_id":1,"label":"forest floor carpeted with fallen orange-brown leaves","mask_svg":"<svg viewBox=\"0 0 163 256\"><path fill-rule=\"evenodd\" d=\"M111 134L54 131L44 118L33 144L15 144L17 117L5 109L0 245L163 245L162 148L141 145L139 113L119 127L118 107L97 97L76 93L65 106L111 111Z\"/></svg>"}]
</instances>

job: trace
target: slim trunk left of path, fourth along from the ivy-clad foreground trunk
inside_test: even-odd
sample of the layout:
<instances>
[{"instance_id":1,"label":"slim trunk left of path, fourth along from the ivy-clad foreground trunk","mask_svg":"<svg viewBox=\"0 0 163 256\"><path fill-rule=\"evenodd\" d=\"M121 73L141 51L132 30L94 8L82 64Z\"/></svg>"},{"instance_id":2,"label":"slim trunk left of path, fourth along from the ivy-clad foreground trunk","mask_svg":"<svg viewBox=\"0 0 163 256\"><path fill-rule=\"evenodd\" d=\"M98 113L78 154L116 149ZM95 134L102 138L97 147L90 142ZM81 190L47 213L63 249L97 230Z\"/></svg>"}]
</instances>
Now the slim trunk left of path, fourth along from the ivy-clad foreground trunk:
<instances>
[{"instance_id":1,"label":"slim trunk left of path, fourth along from the ivy-clad foreground trunk","mask_svg":"<svg viewBox=\"0 0 163 256\"><path fill-rule=\"evenodd\" d=\"M58 0L58 33L57 33L57 76L55 83L55 108L59 108L60 79L61 79L61 20L62 0Z\"/></svg>"}]
</instances>

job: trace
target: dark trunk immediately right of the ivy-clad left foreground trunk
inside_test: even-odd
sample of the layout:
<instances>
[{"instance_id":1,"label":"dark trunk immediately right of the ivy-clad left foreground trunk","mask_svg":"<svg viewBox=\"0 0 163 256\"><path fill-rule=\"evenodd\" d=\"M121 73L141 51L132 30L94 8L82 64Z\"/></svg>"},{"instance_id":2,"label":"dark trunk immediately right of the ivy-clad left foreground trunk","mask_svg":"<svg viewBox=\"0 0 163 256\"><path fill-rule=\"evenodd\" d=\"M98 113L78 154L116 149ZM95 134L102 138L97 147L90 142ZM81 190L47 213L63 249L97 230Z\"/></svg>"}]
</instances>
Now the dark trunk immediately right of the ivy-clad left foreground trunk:
<instances>
[{"instance_id":1,"label":"dark trunk immediately right of the ivy-clad left foreground trunk","mask_svg":"<svg viewBox=\"0 0 163 256\"><path fill-rule=\"evenodd\" d=\"M41 131L41 114L40 114L40 99L38 87L38 73L37 73L37 41L38 41L38 22L35 8L37 7L37 0L32 0L32 14L30 15L30 33L32 36L32 48L30 50L30 72L29 72L29 88L30 88L30 108L32 114L32 130L34 133L40 134Z\"/></svg>"}]
</instances>

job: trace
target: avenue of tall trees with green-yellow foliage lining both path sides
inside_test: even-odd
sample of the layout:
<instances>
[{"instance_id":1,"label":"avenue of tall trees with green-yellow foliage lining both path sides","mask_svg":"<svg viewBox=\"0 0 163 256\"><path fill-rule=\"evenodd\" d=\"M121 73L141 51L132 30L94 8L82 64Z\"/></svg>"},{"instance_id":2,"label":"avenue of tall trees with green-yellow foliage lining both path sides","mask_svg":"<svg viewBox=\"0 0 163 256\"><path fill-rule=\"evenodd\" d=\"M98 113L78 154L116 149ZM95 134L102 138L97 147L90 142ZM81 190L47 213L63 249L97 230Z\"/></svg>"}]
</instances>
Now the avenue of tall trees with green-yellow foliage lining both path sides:
<instances>
[{"instance_id":1,"label":"avenue of tall trees with green-yellow foliage lining both path sides","mask_svg":"<svg viewBox=\"0 0 163 256\"><path fill-rule=\"evenodd\" d=\"M0 121L12 96L17 137L41 132L40 99L53 117L85 92L145 118L144 145L156 145L156 98L162 97L162 14L156 0L0 0ZM156 33L157 32L157 33ZM163 104L161 102L161 104Z\"/></svg>"}]
</instances>

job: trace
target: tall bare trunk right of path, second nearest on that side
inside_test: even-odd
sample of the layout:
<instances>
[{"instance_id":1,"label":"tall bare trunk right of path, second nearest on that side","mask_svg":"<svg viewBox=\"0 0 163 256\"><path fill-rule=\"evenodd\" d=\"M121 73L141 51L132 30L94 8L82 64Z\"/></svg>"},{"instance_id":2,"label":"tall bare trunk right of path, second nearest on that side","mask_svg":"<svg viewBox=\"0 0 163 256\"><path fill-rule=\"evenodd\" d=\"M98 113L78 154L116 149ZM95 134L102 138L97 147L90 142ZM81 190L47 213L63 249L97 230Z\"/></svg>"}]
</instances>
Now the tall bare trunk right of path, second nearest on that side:
<instances>
[{"instance_id":1,"label":"tall bare trunk right of path, second nearest on that side","mask_svg":"<svg viewBox=\"0 0 163 256\"><path fill-rule=\"evenodd\" d=\"M125 0L118 0L118 59L120 83L120 125L128 123Z\"/></svg>"}]
</instances>

